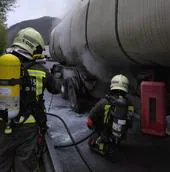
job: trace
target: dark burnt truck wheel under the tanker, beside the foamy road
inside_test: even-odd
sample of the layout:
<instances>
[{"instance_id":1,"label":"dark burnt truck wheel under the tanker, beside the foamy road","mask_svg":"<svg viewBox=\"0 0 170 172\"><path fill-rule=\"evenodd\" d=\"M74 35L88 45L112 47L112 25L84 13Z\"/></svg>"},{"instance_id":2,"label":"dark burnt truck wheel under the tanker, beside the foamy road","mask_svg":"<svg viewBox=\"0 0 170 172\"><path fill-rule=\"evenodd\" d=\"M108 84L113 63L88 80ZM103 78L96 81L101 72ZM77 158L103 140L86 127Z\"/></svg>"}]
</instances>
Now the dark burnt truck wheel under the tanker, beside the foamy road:
<instances>
[{"instance_id":1,"label":"dark burnt truck wheel under the tanker, beside the foamy road","mask_svg":"<svg viewBox=\"0 0 170 172\"><path fill-rule=\"evenodd\" d=\"M68 97L70 100L71 109L74 112L79 113L80 107L79 107L78 97L72 80L68 81Z\"/></svg>"}]
</instances>

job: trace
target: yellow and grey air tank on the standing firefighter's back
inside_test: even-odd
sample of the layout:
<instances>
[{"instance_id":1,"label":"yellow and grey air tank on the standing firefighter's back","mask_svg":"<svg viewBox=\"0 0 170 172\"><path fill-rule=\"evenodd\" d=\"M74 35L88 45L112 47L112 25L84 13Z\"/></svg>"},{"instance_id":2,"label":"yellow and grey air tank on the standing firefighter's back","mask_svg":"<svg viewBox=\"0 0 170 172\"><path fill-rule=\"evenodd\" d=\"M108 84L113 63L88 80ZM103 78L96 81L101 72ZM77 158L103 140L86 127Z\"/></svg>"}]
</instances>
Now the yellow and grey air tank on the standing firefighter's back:
<instances>
[{"instance_id":1,"label":"yellow and grey air tank on the standing firefighter's back","mask_svg":"<svg viewBox=\"0 0 170 172\"><path fill-rule=\"evenodd\" d=\"M0 118L7 124L7 133L12 131L9 130L11 120L20 110L20 67L16 56L5 54L0 57Z\"/></svg>"}]
</instances>

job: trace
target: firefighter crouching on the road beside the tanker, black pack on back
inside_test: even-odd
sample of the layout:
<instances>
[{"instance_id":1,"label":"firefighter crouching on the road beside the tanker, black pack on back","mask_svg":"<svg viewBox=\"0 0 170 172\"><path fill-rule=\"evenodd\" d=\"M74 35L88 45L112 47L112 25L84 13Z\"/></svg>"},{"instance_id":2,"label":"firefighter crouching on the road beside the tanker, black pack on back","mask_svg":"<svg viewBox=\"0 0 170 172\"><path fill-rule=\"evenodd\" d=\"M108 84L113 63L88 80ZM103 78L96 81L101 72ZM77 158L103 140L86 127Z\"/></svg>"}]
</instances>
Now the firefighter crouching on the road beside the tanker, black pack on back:
<instances>
[{"instance_id":1,"label":"firefighter crouching on the road beside the tanker, black pack on back","mask_svg":"<svg viewBox=\"0 0 170 172\"><path fill-rule=\"evenodd\" d=\"M121 140L132 127L134 108L127 98L128 78L122 74L111 80L110 93L91 109L87 126L96 130L89 138L92 150L109 158L114 157L115 150Z\"/></svg>"}]
</instances>

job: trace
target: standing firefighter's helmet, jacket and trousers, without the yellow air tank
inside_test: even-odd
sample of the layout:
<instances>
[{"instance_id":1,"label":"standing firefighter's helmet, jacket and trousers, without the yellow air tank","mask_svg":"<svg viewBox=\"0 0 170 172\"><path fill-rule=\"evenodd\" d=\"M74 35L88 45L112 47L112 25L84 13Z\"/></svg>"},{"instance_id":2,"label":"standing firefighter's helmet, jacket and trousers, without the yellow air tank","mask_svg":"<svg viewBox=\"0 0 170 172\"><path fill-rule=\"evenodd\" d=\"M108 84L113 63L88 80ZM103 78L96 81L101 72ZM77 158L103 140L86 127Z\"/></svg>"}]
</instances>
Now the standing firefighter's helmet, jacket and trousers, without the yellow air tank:
<instances>
[{"instance_id":1,"label":"standing firefighter's helmet, jacket and trousers, without the yellow air tank","mask_svg":"<svg viewBox=\"0 0 170 172\"><path fill-rule=\"evenodd\" d=\"M33 28L20 30L12 49L3 56L15 55L21 63L20 111L12 119L12 132L4 133L0 124L0 171L33 172L37 170L38 139L47 130L44 106L44 89L57 93L53 75L45 68L42 59L44 40ZM10 53L10 54L9 54ZM39 60L40 61L40 60ZM42 138L42 137L41 137ZM40 140L39 140L40 141Z\"/></svg>"}]
</instances>

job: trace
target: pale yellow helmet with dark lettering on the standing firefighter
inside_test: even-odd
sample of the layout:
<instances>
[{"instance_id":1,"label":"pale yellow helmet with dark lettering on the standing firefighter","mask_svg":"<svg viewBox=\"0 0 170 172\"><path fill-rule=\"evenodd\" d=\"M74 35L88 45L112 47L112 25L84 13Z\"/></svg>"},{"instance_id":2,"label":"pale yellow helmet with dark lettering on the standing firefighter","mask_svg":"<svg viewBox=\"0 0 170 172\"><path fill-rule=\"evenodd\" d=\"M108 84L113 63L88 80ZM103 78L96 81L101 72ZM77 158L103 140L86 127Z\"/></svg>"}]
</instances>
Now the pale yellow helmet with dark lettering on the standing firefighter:
<instances>
[{"instance_id":1,"label":"pale yellow helmet with dark lettering on the standing firefighter","mask_svg":"<svg viewBox=\"0 0 170 172\"><path fill-rule=\"evenodd\" d=\"M27 27L16 34L12 46L26 50L34 59L41 57L44 50L44 39L37 30Z\"/></svg>"}]
</instances>

